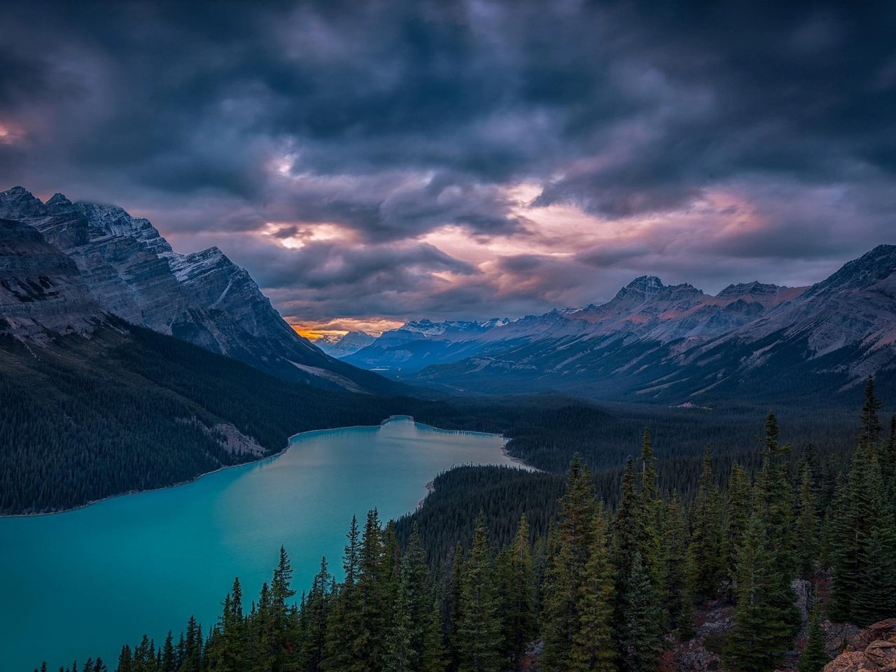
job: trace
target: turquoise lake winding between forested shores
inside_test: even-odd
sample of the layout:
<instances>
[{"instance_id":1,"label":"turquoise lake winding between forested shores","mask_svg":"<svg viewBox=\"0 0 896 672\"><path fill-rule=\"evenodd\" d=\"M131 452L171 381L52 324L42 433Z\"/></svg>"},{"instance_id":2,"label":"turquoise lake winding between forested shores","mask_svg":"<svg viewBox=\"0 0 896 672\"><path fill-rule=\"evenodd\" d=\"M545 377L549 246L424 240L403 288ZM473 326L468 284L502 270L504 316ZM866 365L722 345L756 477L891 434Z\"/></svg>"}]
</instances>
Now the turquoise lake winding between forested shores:
<instances>
[{"instance_id":1,"label":"turquoise lake winding between forested shores","mask_svg":"<svg viewBox=\"0 0 896 672\"><path fill-rule=\"evenodd\" d=\"M50 669L121 644L157 644L194 614L207 632L235 576L246 605L270 581L280 545L301 592L326 556L334 573L351 516L413 511L452 466L505 464L497 435L381 426L294 436L278 457L184 486L114 497L67 513L0 518L0 660ZM7 667L8 666L8 667Z\"/></svg>"}]
</instances>

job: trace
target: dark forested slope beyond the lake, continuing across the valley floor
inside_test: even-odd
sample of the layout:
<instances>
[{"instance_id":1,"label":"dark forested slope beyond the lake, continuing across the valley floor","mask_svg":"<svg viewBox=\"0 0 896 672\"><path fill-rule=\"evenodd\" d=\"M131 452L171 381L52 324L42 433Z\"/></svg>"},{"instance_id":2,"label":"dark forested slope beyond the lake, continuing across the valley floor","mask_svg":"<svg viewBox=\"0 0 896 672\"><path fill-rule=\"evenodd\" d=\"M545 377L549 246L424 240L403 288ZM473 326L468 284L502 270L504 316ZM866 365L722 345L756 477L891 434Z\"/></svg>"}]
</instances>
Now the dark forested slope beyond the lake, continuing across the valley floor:
<instances>
[{"instance_id":1,"label":"dark forested slope beyond the lake, continuing across the valley floor","mask_svg":"<svg viewBox=\"0 0 896 672\"><path fill-rule=\"evenodd\" d=\"M556 395L432 401L336 392L281 380L182 340L113 320L89 339L46 346L0 338L0 513L71 508L170 486L280 452L290 435L411 415L446 429L504 433L508 450L563 472L578 452L595 470L625 463L643 426L680 461L664 487L685 488L703 445L754 463L762 409L597 406ZM795 440L825 460L852 433L849 414L788 409ZM826 462L825 462L826 463Z\"/></svg>"}]
</instances>

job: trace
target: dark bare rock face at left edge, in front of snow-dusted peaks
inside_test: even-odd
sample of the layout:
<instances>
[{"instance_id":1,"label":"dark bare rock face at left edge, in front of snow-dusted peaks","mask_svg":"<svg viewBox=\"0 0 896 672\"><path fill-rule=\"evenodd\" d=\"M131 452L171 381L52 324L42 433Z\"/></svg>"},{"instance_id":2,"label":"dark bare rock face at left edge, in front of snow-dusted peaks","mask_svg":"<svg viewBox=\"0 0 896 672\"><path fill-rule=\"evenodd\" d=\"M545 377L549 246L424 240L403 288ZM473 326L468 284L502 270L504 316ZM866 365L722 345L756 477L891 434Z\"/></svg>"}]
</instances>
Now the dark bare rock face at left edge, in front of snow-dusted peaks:
<instances>
[{"instance_id":1,"label":"dark bare rock face at left edge, in front of snow-dusted peaks","mask_svg":"<svg viewBox=\"0 0 896 672\"><path fill-rule=\"evenodd\" d=\"M105 321L71 259L36 229L0 220L0 335L45 343Z\"/></svg>"}]
</instances>

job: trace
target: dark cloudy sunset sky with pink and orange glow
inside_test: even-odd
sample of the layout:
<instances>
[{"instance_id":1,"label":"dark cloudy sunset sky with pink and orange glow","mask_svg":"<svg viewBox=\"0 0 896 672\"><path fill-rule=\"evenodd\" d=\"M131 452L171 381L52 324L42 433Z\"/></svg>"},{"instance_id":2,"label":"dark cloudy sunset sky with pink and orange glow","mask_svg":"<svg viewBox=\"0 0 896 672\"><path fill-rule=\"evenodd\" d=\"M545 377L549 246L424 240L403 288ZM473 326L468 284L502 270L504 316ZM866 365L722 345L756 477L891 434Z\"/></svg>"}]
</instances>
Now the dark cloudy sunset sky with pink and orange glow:
<instances>
[{"instance_id":1,"label":"dark cloudy sunset sky with pink and orange glow","mask_svg":"<svg viewBox=\"0 0 896 672\"><path fill-rule=\"evenodd\" d=\"M0 188L219 246L303 332L896 243L896 4L4 2Z\"/></svg>"}]
</instances>

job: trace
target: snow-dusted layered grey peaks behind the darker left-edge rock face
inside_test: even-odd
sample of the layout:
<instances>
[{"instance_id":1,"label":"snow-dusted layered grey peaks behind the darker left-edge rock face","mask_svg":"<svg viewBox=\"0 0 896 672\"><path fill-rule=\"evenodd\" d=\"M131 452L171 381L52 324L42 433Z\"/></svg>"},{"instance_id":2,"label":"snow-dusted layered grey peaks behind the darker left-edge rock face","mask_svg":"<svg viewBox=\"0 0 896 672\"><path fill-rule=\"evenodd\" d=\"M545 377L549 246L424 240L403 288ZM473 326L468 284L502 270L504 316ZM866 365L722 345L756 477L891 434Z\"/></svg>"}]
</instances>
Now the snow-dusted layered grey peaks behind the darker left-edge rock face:
<instances>
[{"instance_id":1,"label":"snow-dusted layered grey peaks behind the darker left-edge rock face","mask_svg":"<svg viewBox=\"0 0 896 672\"><path fill-rule=\"evenodd\" d=\"M0 217L37 229L76 264L96 303L129 323L288 380L354 391L396 389L298 336L248 272L217 247L178 254L149 220L62 194L44 203L21 186L0 193Z\"/></svg>"}]
</instances>

